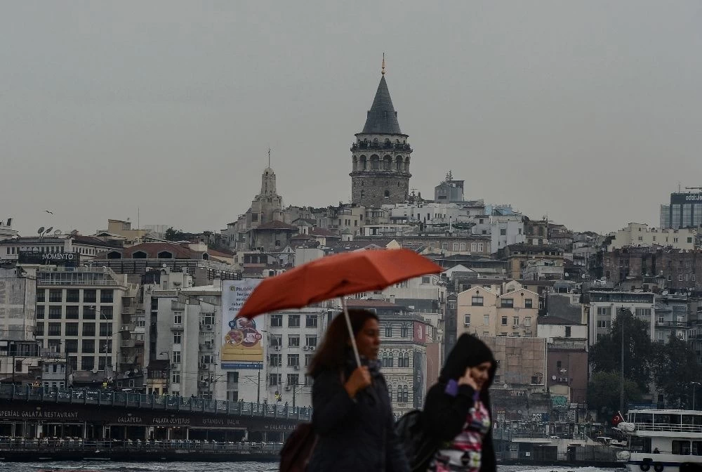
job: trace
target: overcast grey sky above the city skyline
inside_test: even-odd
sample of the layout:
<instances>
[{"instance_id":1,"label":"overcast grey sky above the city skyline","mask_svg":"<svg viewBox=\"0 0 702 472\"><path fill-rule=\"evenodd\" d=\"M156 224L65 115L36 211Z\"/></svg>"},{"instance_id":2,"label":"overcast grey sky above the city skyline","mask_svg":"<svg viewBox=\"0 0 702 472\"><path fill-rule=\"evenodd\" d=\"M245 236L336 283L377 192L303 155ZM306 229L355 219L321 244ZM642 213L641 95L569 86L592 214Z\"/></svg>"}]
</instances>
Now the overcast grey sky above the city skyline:
<instances>
[{"instance_id":1,"label":"overcast grey sky above the city skyline","mask_svg":"<svg viewBox=\"0 0 702 472\"><path fill-rule=\"evenodd\" d=\"M285 204L347 202L383 51L425 197L452 169L467 197L606 232L702 185L699 1L0 7L0 219L23 235L138 207L219 230L269 145Z\"/></svg>"}]
</instances>

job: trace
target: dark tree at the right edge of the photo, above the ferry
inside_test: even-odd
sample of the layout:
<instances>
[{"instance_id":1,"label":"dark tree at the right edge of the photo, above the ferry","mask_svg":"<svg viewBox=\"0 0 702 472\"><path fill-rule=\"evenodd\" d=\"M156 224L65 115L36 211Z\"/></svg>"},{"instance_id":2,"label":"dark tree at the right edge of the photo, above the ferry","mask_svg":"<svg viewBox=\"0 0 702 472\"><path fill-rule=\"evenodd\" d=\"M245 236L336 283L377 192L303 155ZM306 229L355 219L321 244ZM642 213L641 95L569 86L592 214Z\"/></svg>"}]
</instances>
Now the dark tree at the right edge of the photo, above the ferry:
<instances>
[{"instance_id":1,"label":"dark tree at the right edge of the photo, above the ferry","mask_svg":"<svg viewBox=\"0 0 702 472\"><path fill-rule=\"evenodd\" d=\"M702 380L702 366L693 346L671 334L667 344L656 348L653 367L656 387L665 394L668 406L692 408L691 384Z\"/></svg>"}]
</instances>

